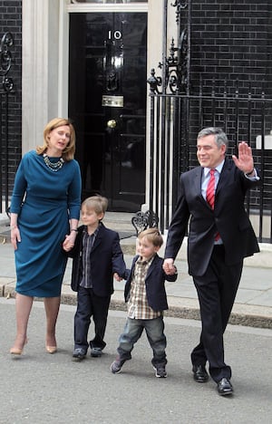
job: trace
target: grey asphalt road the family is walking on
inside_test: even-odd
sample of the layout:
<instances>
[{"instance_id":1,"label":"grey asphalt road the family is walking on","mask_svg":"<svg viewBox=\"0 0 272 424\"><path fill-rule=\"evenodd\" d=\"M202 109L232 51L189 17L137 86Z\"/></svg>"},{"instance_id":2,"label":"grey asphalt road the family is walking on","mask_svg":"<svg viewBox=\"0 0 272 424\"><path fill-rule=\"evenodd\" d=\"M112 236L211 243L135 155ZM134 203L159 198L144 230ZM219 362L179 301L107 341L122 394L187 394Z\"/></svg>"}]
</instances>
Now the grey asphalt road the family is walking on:
<instances>
[{"instance_id":1,"label":"grey asphalt road the family is walking on","mask_svg":"<svg viewBox=\"0 0 272 424\"><path fill-rule=\"evenodd\" d=\"M272 331L228 325L225 358L232 368L232 396L219 396L214 381L193 380L190 351L199 341L196 320L165 317L168 378L157 379L143 333L120 374L110 366L126 313L109 311L101 358L88 352L73 361L74 305L62 304L58 351L44 348L44 304L34 302L28 342L9 354L15 338L15 299L0 298L0 424L271 424ZM92 339L94 326L90 326Z\"/></svg>"}]
</instances>

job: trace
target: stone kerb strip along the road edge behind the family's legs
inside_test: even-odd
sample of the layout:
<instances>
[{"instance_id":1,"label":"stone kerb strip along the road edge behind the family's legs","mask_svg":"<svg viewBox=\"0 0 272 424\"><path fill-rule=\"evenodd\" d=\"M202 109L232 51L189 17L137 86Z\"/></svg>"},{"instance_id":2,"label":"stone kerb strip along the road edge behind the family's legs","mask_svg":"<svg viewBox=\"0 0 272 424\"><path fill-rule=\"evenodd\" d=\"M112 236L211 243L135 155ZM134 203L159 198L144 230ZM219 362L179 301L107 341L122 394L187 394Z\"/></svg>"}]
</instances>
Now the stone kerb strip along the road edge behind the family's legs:
<instances>
[{"instance_id":1,"label":"stone kerb strip along the road edge behind the family's legs","mask_svg":"<svg viewBox=\"0 0 272 424\"><path fill-rule=\"evenodd\" d=\"M7 280L10 280L7 281L7 284L0 282L0 297L5 297L8 300L9 298L15 298L15 280L11 278ZM36 298L35 300L42 301L40 298ZM76 305L76 293L67 285L63 285L61 303ZM197 299L168 296L168 303L170 308L165 312L165 316L199 321L199 302ZM114 311L127 311L122 291L115 290L114 294L112 294L110 309ZM234 304L228 323L272 329L272 308Z\"/></svg>"}]
</instances>

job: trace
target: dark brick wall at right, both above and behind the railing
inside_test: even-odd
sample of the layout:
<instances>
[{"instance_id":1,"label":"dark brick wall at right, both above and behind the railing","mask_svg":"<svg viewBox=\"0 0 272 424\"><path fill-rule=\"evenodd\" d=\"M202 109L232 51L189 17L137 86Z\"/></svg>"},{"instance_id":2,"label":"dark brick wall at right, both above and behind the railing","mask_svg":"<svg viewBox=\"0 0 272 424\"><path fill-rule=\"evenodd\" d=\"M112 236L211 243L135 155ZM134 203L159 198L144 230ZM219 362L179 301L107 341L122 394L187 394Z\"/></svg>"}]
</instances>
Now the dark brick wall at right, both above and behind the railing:
<instances>
[{"instance_id":1,"label":"dark brick wall at right, both above and behind the railing","mask_svg":"<svg viewBox=\"0 0 272 424\"><path fill-rule=\"evenodd\" d=\"M186 26L187 18L187 12L184 12L181 28ZM248 140L254 149L262 127L266 134L272 130L272 103L267 102L265 109L261 102L252 103L248 111L247 101L249 93L258 99L263 93L265 98L272 98L271 24L271 0L191 0L190 92L199 94L201 79L204 95L214 92L219 96L226 92L229 97L238 95L245 98L244 102L239 103L238 116L235 101L228 103L227 120L223 106L215 111L215 125L225 128L228 133L229 153L235 152L239 140ZM203 126L213 124L210 117L214 105L213 101L202 101L205 111ZM193 110L190 112L193 137L189 143L190 158L193 158L199 122L193 119ZM271 150L260 152L254 149L254 155L257 165L263 171L264 205L270 210ZM191 159L191 166L194 165ZM255 207L259 203L260 199L253 193L251 206Z\"/></svg>"}]
</instances>

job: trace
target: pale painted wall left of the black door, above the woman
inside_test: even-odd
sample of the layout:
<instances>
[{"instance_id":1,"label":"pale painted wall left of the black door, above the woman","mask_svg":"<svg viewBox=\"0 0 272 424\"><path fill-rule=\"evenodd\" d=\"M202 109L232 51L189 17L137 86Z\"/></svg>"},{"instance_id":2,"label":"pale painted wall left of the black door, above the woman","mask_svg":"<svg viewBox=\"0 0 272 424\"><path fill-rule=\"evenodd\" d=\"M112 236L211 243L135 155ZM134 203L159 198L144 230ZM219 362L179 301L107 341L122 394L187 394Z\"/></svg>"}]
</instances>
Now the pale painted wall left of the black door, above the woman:
<instances>
[{"instance_id":1,"label":"pale painted wall left of the black door, above the woman","mask_svg":"<svg viewBox=\"0 0 272 424\"><path fill-rule=\"evenodd\" d=\"M43 143L44 125L67 115L66 0L24 0L22 151Z\"/></svg>"}]
</instances>

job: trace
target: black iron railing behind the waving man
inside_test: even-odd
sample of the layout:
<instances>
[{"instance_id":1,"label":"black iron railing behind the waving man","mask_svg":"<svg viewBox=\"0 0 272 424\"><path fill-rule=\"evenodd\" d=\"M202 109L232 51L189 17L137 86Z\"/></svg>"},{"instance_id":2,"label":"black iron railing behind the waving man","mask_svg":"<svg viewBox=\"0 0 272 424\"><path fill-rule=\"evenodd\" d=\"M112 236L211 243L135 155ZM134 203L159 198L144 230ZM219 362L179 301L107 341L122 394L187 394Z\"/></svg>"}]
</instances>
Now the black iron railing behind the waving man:
<instances>
[{"instance_id":1,"label":"black iron railing behind the waving man","mask_svg":"<svg viewBox=\"0 0 272 424\"><path fill-rule=\"evenodd\" d=\"M151 92L149 209L164 232L177 201L180 173L198 164L199 130L221 127L228 134L228 155L237 154L241 140L253 150L262 184L248 193L246 208L258 241L272 243L272 99L265 93L253 97L250 90L241 95L238 88L229 95L226 83L223 87L222 93L213 89L210 95L203 94L201 84L196 95Z\"/></svg>"}]
</instances>

